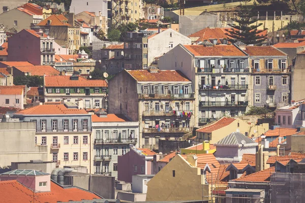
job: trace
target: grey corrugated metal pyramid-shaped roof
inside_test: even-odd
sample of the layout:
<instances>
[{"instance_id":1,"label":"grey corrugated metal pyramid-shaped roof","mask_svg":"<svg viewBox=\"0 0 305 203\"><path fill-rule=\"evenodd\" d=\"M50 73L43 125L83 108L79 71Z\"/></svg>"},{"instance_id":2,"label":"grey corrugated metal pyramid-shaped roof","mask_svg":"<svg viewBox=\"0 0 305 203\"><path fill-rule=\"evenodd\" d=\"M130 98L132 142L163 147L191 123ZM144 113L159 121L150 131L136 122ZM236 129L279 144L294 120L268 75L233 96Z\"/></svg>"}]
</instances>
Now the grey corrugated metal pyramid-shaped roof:
<instances>
[{"instance_id":1,"label":"grey corrugated metal pyramid-shaped roof","mask_svg":"<svg viewBox=\"0 0 305 203\"><path fill-rule=\"evenodd\" d=\"M247 136L244 136L240 132L232 132L231 134L214 144L214 146L216 147L247 147L256 145L257 143L255 141L248 138Z\"/></svg>"}]
</instances>

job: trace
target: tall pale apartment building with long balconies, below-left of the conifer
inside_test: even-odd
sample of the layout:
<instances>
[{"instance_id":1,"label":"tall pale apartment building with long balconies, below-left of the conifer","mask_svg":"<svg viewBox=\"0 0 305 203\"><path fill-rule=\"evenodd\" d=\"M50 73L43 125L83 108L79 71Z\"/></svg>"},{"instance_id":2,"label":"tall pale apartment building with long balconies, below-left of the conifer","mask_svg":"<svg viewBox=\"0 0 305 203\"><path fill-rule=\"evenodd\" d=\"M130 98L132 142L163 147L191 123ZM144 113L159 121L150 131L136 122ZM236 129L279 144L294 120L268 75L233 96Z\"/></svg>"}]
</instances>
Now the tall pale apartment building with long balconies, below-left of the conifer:
<instances>
[{"instance_id":1,"label":"tall pale apartment building with long balconies, below-left of the conifer","mask_svg":"<svg viewBox=\"0 0 305 203\"><path fill-rule=\"evenodd\" d=\"M235 45L178 45L159 59L161 70L176 69L193 81L195 125L243 115L250 94L248 55Z\"/></svg>"}]
</instances>

